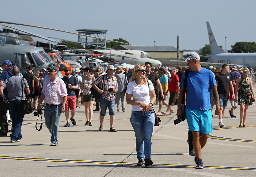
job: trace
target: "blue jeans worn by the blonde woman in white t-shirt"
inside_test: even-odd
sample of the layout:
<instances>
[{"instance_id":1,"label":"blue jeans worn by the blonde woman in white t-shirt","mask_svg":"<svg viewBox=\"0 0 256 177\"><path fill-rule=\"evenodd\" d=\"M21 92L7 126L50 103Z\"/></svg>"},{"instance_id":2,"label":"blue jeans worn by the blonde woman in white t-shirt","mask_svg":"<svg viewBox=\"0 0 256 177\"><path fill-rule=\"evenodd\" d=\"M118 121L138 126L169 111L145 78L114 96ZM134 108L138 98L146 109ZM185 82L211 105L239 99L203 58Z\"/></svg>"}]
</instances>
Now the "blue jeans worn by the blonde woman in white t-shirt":
<instances>
[{"instance_id":1,"label":"blue jeans worn by the blonde woman in white t-shirt","mask_svg":"<svg viewBox=\"0 0 256 177\"><path fill-rule=\"evenodd\" d=\"M154 111L142 113L141 111L132 111L131 124L136 137L136 151L138 160L150 158L151 155L151 136L155 124Z\"/></svg>"}]
</instances>

